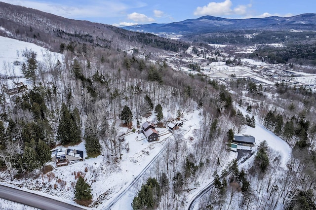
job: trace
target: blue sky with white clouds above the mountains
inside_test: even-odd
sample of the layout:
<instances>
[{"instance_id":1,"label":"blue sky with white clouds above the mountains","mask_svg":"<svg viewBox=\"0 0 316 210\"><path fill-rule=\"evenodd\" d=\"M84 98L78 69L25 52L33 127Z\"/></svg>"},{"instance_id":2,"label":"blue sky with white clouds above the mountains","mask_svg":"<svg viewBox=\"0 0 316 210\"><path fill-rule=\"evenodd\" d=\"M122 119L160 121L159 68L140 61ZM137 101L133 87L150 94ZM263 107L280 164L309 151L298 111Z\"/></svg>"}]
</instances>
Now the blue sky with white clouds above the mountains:
<instances>
[{"instance_id":1,"label":"blue sky with white clouds above the mountains","mask_svg":"<svg viewBox=\"0 0 316 210\"><path fill-rule=\"evenodd\" d=\"M315 13L315 0L1 0L111 25L170 23L204 15L252 18Z\"/></svg>"}]
</instances>

